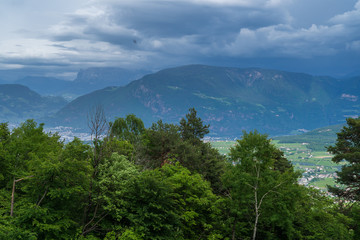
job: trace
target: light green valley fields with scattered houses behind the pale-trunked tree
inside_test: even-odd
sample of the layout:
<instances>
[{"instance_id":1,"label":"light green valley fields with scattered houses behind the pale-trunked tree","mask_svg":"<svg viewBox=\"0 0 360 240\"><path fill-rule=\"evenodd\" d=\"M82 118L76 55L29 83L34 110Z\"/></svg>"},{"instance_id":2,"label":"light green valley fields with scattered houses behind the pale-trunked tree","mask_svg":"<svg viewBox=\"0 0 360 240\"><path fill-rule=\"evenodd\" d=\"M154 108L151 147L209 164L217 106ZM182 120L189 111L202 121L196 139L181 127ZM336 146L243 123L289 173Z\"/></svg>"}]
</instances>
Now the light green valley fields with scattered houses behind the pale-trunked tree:
<instances>
[{"instance_id":1,"label":"light green valley fields with scattered houses behind the pale-trunked tree","mask_svg":"<svg viewBox=\"0 0 360 240\"><path fill-rule=\"evenodd\" d=\"M336 171L340 170L341 165L331 161L332 156L324 150L312 150L309 143L282 143L279 140L272 141L285 157L294 165L295 170L302 173L299 183L306 186L326 191L327 185L335 185ZM235 141L213 141L212 146L221 154L227 155L230 147L235 145Z\"/></svg>"}]
</instances>

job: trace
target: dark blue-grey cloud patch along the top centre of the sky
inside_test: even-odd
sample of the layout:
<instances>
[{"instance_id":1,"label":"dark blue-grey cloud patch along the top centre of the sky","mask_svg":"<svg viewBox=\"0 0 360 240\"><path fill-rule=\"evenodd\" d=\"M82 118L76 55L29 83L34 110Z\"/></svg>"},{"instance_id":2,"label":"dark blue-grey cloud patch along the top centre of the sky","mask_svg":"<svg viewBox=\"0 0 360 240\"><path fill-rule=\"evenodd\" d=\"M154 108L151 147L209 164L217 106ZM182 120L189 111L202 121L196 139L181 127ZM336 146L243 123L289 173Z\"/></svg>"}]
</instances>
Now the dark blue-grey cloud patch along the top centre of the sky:
<instances>
[{"instance_id":1,"label":"dark blue-grey cloud patch along the top centre of the sky","mask_svg":"<svg viewBox=\"0 0 360 240\"><path fill-rule=\"evenodd\" d=\"M274 9L242 6L199 5L191 2L144 2L139 9L113 6L114 23L137 29L145 36L228 34L240 28L279 24L285 16Z\"/></svg>"}]
</instances>

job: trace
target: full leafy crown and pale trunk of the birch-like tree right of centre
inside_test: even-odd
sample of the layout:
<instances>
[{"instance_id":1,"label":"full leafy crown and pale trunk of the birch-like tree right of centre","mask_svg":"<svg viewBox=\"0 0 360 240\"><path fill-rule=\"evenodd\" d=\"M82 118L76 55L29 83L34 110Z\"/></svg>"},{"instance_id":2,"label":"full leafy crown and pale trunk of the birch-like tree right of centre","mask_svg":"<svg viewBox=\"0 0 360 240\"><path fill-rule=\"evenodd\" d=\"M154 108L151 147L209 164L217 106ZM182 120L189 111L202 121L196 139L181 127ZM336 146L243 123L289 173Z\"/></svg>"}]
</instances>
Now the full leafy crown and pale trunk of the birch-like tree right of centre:
<instances>
[{"instance_id":1,"label":"full leafy crown and pale trunk of the birch-like tree right of centre","mask_svg":"<svg viewBox=\"0 0 360 240\"><path fill-rule=\"evenodd\" d=\"M244 132L231 148L230 160L234 165L229 166L223 181L230 197L227 222L231 235L289 238L293 204L287 197L293 196L291 189L298 177L291 164L266 135L256 131Z\"/></svg>"}]
</instances>

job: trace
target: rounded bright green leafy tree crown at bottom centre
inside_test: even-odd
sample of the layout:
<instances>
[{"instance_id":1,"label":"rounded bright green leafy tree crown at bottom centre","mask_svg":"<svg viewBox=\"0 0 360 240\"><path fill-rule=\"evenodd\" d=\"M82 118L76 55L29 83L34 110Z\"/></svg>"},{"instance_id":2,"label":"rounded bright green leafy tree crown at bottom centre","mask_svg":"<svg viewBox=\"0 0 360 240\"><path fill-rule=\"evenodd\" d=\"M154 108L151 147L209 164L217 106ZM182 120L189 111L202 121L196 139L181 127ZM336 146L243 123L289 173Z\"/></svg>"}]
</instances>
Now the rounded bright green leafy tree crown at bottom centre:
<instances>
[{"instance_id":1,"label":"rounded bright green leafy tree crown at bottom centre","mask_svg":"<svg viewBox=\"0 0 360 240\"><path fill-rule=\"evenodd\" d=\"M123 196L122 223L143 239L206 239L214 228L210 185L179 164L142 172Z\"/></svg>"}]
</instances>

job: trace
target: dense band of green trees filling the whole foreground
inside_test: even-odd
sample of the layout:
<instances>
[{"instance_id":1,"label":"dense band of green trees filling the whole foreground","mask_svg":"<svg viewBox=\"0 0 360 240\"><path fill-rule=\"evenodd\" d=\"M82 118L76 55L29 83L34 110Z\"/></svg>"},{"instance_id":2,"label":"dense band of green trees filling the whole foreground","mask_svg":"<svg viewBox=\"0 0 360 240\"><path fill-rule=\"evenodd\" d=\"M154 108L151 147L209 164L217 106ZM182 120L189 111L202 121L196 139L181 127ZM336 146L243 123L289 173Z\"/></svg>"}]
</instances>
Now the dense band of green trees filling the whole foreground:
<instances>
[{"instance_id":1,"label":"dense band of green trees filling the whole foreground","mask_svg":"<svg viewBox=\"0 0 360 240\"><path fill-rule=\"evenodd\" d=\"M256 130L219 154L195 109L145 128L96 107L88 125L90 144L0 124L0 239L360 239L360 119L328 148L348 162L331 194Z\"/></svg>"}]
</instances>

